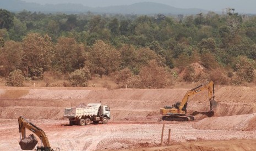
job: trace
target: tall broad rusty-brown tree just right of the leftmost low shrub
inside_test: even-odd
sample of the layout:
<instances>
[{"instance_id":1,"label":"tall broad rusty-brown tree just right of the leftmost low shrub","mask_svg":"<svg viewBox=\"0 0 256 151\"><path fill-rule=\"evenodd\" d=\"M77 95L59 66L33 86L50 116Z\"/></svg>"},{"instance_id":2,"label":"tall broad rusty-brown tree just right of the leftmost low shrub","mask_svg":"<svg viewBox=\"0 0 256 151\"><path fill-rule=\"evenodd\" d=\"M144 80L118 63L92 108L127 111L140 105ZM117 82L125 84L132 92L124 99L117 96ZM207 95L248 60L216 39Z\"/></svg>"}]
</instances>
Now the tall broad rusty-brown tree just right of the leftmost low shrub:
<instances>
[{"instance_id":1,"label":"tall broad rusty-brown tree just right of the leftmost low shrub","mask_svg":"<svg viewBox=\"0 0 256 151\"><path fill-rule=\"evenodd\" d=\"M26 77L42 79L43 72L51 67L53 44L45 34L30 33L23 39L22 66Z\"/></svg>"}]
</instances>

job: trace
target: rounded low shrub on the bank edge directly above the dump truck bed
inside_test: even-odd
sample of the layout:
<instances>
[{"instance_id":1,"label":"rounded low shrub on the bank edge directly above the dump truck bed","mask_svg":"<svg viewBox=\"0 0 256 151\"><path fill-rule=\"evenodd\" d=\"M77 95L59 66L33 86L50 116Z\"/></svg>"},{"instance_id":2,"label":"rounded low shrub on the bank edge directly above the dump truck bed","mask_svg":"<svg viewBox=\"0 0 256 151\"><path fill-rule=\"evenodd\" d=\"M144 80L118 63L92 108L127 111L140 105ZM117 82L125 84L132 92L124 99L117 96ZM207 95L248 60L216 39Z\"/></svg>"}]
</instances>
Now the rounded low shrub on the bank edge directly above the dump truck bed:
<instances>
[{"instance_id":1,"label":"rounded low shrub on the bank edge directly above the dump truck bed","mask_svg":"<svg viewBox=\"0 0 256 151\"><path fill-rule=\"evenodd\" d=\"M72 86L88 86L91 75L88 68L76 69L69 75L69 82Z\"/></svg>"}]
</instances>

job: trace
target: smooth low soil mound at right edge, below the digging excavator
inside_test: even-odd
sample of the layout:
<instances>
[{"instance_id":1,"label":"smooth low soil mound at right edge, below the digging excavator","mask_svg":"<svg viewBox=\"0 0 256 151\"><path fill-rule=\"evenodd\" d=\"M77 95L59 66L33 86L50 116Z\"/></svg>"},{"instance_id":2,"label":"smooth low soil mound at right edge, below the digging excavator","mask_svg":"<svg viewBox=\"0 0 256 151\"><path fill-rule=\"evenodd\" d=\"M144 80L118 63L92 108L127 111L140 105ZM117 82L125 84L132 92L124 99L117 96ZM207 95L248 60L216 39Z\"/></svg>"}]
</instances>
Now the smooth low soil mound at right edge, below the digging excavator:
<instances>
[{"instance_id":1,"label":"smooth low soil mound at right edge, below the digging excavator","mask_svg":"<svg viewBox=\"0 0 256 151\"><path fill-rule=\"evenodd\" d=\"M198 121L193 127L203 130L253 131L256 130L256 114L205 118Z\"/></svg>"}]
</instances>

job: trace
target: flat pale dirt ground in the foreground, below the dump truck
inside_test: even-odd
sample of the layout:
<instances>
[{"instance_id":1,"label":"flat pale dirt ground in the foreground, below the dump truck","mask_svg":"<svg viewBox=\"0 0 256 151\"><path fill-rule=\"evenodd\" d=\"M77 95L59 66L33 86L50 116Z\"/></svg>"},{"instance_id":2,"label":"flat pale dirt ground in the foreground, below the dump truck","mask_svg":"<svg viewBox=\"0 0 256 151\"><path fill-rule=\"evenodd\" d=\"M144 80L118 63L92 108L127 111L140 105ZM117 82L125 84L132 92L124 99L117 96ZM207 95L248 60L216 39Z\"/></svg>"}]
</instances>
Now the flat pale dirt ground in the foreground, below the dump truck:
<instances>
[{"instance_id":1,"label":"flat pale dirt ground in the foreground, below the dump truck","mask_svg":"<svg viewBox=\"0 0 256 151\"><path fill-rule=\"evenodd\" d=\"M46 132L52 148L59 147L61 150L158 147L163 124L162 122L119 121L110 122L107 125L69 126L67 120L32 120L32 123ZM1 150L20 150L17 120L0 120L0 124ZM171 129L171 144L202 140L256 140L256 131L199 130L193 128L194 124L197 122L165 122L164 144L167 144L168 129Z\"/></svg>"}]
</instances>

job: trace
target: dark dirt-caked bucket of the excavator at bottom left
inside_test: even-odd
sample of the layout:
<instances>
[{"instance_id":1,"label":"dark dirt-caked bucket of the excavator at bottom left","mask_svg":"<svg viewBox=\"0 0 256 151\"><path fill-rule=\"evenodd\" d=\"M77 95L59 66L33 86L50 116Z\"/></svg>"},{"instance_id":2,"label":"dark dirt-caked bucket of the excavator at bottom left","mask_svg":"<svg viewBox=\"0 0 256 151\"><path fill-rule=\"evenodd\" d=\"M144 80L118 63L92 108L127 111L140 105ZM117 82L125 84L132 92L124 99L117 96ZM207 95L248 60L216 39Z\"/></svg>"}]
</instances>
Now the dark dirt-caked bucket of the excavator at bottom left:
<instances>
[{"instance_id":1,"label":"dark dirt-caked bucket of the excavator at bottom left","mask_svg":"<svg viewBox=\"0 0 256 151\"><path fill-rule=\"evenodd\" d=\"M30 134L28 137L21 139L19 144L22 150L32 150L35 148L37 142L36 137L33 134Z\"/></svg>"}]
</instances>

